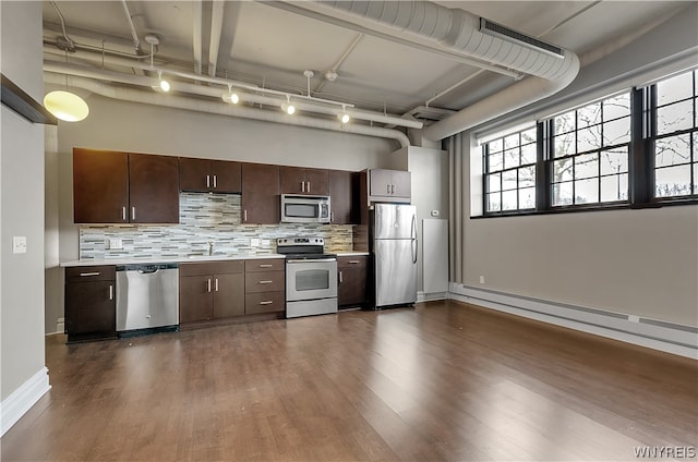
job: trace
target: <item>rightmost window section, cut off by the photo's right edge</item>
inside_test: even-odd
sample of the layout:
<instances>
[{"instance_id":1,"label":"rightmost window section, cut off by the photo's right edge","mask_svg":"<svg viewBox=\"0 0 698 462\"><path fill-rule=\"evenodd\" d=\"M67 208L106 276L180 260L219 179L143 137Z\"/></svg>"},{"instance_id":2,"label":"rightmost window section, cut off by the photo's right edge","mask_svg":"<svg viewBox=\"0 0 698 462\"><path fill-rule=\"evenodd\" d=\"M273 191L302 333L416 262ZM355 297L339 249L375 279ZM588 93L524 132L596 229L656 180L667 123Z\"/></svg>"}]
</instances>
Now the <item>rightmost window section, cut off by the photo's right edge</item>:
<instances>
[{"instance_id":1,"label":"rightmost window section, cut off by the photo's right edge","mask_svg":"<svg viewBox=\"0 0 698 462\"><path fill-rule=\"evenodd\" d=\"M655 85L650 138L657 198L698 194L697 74L687 72Z\"/></svg>"}]
</instances>

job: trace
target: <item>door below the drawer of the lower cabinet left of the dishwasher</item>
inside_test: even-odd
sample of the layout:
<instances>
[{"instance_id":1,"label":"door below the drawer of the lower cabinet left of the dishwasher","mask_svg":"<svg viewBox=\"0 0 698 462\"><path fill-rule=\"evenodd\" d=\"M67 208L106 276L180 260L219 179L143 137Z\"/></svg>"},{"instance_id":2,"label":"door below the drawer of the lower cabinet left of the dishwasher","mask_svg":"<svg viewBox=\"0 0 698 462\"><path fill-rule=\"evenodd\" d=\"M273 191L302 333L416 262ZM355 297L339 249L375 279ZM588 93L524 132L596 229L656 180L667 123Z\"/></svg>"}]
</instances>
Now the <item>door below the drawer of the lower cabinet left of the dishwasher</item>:
<instances>
[{"instance_id":1,"label":"door below the drawer of the lower cabinet left of the dishwasher","mask_svg":"<svg viewBox=\"0 0 698 462\"><path fill-rule=\"evenodd\" d=\"M69 336L103 332L117 335L115 281L65 284L65 332Z\"/></svg>"}]
</instances>

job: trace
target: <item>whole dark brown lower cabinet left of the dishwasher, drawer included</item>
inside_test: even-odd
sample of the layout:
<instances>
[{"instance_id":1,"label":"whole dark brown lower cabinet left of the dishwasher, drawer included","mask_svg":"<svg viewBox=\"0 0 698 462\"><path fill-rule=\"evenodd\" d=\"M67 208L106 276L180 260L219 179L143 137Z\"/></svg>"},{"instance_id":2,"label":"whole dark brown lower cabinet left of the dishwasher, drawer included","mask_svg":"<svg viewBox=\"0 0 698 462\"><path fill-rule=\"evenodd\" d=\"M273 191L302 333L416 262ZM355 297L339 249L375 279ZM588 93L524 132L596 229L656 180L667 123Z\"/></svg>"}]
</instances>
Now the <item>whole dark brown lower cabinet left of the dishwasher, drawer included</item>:
<instances>
[{"instance_id":1,"label":"whole dark brown lower cabinet left of the dishwasher, drawer included","mask_svg":"<svg viewBox=\"0 0 698 462\"><path fill-rule=\"evenodd\" d=\"M65 268L65 333L68 342L117 337L116 268Z\"/></svg>"}]
</instances>

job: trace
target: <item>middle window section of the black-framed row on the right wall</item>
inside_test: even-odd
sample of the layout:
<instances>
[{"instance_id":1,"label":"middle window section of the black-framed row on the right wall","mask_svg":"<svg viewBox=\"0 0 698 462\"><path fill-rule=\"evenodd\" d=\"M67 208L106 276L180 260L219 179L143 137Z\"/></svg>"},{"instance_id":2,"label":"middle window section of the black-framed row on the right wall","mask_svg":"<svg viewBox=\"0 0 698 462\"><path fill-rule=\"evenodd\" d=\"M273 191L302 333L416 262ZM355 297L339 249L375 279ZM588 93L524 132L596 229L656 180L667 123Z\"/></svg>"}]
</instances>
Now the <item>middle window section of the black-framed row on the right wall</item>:
<instances>
[{"instance_id":1,"label":"middle window section of the black-framed row on the right wall","mask_svg":"<svg viewBox=\"0 0 698 462\"><path fill-rule=\"evenodd\" d=\"M630 94L553 119L552 206L628 198Z\"/></svg>"}]
</instances>

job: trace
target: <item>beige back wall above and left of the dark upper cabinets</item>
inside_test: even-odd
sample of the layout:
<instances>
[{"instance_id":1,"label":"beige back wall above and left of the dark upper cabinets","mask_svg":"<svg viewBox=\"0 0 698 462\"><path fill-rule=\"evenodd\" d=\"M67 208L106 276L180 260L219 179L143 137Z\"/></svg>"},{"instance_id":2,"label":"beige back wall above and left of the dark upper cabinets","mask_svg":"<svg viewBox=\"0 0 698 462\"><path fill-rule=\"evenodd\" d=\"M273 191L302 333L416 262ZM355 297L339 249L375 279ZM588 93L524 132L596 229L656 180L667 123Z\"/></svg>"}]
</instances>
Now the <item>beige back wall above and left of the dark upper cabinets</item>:
<instances>
[{"instance_id":1,"label":"beige back wall above and left of the dark upper cabinets","mask_svg":"<svg viewBox=\"0 0 698 462\"><path fill-rule=\"evenodd\" d=\"M204 112L166 109L88 96L89 117L83 122L61 124L58 130L56 161L47 160L57 181L47 181L47 197L55 210L47 216L47 233L60 262L79 258L79 227L73 224L72 148L127 150L210 159L242 160L362 170L387 168L397 143L384 138L297 127L277 123L236 119ZM222 102L221 102L222 104ZM47 142L47 148L50 143ZM58 247L58 248L56 248ZM51 254L53 254L51 250ZM47 269L50 275L46 332L56 331L56 319L63 316L62 283L56 283L58 263Z\"/></svg>"}]
</instances>

